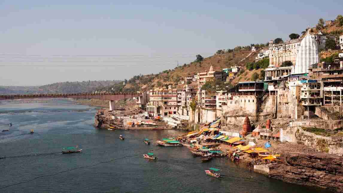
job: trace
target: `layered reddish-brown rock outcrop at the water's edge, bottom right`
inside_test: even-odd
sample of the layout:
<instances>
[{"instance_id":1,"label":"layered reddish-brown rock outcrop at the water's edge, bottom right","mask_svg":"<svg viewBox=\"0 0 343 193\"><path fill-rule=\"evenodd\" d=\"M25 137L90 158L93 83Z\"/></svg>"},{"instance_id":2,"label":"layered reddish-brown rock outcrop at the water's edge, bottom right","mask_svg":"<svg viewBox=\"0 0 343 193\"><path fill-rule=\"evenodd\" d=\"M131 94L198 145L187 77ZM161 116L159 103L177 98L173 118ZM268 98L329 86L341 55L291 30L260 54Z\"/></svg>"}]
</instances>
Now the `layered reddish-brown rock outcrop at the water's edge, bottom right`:
<instances>
[{"instance_id":1,"label":"layered reddish-brown rock outcrop at the water's edge, bottom right","mask_svg":"<svg viewBox=\"0 0 343 193\"><path fill-rule=\"evenodd\" d=\"M343 157L325 153L284 152L269 165L268 176L285 182L343 192Z\"/></svg>"}]
</instances>

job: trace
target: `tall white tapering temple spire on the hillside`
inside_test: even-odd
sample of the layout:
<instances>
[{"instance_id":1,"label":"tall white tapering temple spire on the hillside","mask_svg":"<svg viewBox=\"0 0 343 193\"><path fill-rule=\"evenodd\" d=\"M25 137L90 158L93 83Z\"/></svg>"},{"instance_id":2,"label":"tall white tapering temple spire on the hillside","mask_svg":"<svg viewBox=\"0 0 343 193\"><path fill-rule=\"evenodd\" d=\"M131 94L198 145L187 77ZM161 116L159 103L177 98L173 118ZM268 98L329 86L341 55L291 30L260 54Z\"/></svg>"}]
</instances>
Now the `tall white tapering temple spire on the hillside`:
<instances>
[{"instance_id":1,"label":"tall white tapering temple spire on the hillside","mask_svg":"<svg viewBox=\"0 0 343 193\"><path fill-rule=\"evenodd\" d=\"M293 73L307 73L309 65L318 63L318 61L318 43L307 31L307 34L305 38L301 40L300 47L298 49Z\"/></svg>"}]
</instances>

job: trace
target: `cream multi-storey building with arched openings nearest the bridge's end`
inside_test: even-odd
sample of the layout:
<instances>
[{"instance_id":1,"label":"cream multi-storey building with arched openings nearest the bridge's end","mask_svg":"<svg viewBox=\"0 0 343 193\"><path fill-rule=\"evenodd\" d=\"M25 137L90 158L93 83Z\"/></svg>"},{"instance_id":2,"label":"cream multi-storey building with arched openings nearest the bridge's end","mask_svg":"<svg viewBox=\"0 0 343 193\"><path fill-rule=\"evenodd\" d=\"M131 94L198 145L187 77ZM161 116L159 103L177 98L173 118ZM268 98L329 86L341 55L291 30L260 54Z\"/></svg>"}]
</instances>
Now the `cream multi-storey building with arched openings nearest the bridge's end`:
<instances>
[{"instance_id":1,"label":"cream multi-storey building with arched openings nearest the bridge's end","mask_svg":"<svg viewBox=\"0 0 343 193\"><path fill-rule=\"evenodd\" d=\"M168 89L150 90L149 99L146 111L150 116L169 116L178 111L177 90L171 85Z\"/></svg>"}]
</instances>

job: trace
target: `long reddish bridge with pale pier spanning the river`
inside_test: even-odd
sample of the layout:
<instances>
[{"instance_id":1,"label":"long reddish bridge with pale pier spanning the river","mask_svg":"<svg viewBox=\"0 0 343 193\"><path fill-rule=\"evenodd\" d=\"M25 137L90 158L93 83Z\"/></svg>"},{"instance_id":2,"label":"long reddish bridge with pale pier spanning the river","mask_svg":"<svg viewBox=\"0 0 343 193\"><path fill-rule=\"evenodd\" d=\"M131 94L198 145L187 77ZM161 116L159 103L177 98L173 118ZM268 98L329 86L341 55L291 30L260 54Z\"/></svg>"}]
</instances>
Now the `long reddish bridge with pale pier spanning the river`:
<instances>
[{"instance_id":1,"label":"long reddish bridge with pale pier spanning the river","mask_svg":"<svg viewBox=\"0 0 343 193\"><path fill-rule=\"evenodd\" d=\"M109 100L109 109L114 110L115 100L141 97L142 93L115 93L115 94L92 94L92 93L71 93L71 94L28 94L28 95L0 95L0 100L13 100L25 98L83 98Z\"/></svg>"}]
</instances>

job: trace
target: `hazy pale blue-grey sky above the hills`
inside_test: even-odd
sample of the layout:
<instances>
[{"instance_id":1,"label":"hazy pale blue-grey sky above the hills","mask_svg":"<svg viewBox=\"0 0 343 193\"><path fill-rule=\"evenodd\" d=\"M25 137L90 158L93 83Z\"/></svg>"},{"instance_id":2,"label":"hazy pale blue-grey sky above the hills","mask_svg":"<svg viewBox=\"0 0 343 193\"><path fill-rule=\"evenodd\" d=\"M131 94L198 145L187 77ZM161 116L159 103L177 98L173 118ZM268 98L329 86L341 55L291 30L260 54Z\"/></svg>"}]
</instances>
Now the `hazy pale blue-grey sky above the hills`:
<instances>
[{"instance_id":1,"label":"hazy pale blue-grey sky above the hills","mask_svg":"<svg viewBox=\"0 0 343 193\"><path fill-rule=\"evenodd\" d=\"M158 73L198 53L288 40L320 17L343 14L342 0L46 3L0 1L0 85Z\"/></svg>"}]
</instances>

